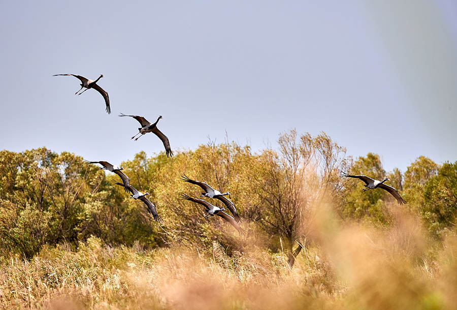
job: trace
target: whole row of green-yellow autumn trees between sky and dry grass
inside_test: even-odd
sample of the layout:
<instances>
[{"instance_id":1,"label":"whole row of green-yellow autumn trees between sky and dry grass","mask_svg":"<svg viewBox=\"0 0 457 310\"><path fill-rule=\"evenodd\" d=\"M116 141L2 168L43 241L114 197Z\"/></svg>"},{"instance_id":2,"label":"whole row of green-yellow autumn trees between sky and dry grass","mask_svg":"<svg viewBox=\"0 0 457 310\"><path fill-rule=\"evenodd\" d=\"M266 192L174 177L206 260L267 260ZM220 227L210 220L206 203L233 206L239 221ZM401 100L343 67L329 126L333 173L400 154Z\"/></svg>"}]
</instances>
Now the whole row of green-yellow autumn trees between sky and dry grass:
<instances>
[{"instance_id":1,"label":"whole row of green-yellow autumn trees between sky and dry grass","mask_svg":"<svg viewBox=\"0 0 457 310\"><path fill-rule=\"evenodd\" d=\"M73 153L57 154L44 147L0 152L0 256L31 258L44 244L78 241L90 235L110 244L147 247L172 244L211 248L214 239L241 250L242 242L223 221L207 220L203 210L179 199L198 196L200 189L180 181L181 174L232 193L242 225L263 236L272 251L284 245L292 266L312 239L316 207L326 203L340 221L388 226L388 206L396 204L381 190L362 192L363 182L340 178L345 170L382 179L407 201L402 208L416 214L430 235L441 238L454 230L457 213L457 162L437 164L420 156L402 173L386 172L378 154L352 159L346 149L321 133L282 133L278 149L253 153L235 142L210 141L195 150L147 157L141 151L121 163L130 182L157 206L163 223L153 222L143 204L114 187L114 174L83 163ZM101 159L106 160L106 159ZM117 163L116 163L117 164ZM211 201L216 204L216 202ZM284 243L284 244L282 244ZM303 243L303 242L302 242Z\"/></svg>"}]
</instances>

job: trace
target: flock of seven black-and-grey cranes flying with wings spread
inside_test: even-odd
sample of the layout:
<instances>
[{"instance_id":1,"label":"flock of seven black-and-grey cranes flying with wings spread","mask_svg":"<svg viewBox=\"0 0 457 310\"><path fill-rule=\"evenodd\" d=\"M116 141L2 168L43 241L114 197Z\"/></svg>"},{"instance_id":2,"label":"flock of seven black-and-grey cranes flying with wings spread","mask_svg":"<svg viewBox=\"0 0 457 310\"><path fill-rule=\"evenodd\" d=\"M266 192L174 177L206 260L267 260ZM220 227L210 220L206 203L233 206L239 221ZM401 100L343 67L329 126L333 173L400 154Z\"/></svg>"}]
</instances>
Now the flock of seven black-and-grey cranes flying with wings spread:
<instances>
[{"instance_id":1,"label":"flock of seven black-and-grey cranes flying with wings spread","mask_svg":"<svg viewBox=\"0 0 457 310\"><path fill-rule=\"evenodd\" d=\"M103 75L100 75L99 78L97 78L96 80L90 80L81 75L76 75L76 74L55 74L53 76L58 76L58 75L74 76L81 81L81 84L80 84L81 88L75 93L75 95L81 95L84 91L86 91L89 88L93 88L93 89L97 90L98 92L100 92L100 94L105 99L106 112L108 112L108 114L111 114L110 98L108 96L108 92L96 84L97 81L99 81L102 77L104 77ZM83 88L86 88L86 89L81 91ZM123 116L133 117L136 120L138 120L138 122L140 122L141 128L138 128L139 133L136 134L135 136L133 136L131 139L134 139L136 137L135 141L137 141L141 136L145 135L146 133L152 132L162 141L162 143L164 143L167 157L173 157L173 152L170 147L170 141L168 140L167 136L164 135L157 128L157 122L160 120L160 118L162 118L161 115L157 118L157 120L154 123L151 123L146 118L144 118L143 116L139 116L139 115L126 115L126 114L121 113L121 115L119 115L119 116L120 117L123 117ZM140 136L137 137L138 135L140 135ZM160 216L157 213L157 209L155 208L155 205L149 199L146 198L146 196L149 195L149 193L143 194L143 193L139 192L137 189L135 189L132 186L132 184L130 184L130 180L129 180L128 176L125 175L125 173L123 173L121 171L121 170L123 170L122 167L112 165L106 161L98 161L98 162L85 161L85 162L87 162L89 164L100 164L103 166L100 169L105 169L105 170L108 170L108 171L111 171L111 172L117 174L121 178L122 183L114 182L114 184L122 186L124 188L125 192L131 194L130 198L133 198L135 200L140 199L141 201L143 201L144 204L146 205L146 207L148 208L148 211L152 214L154 221L161 222ZM364 191L374 190L377 188L383 189L383 190L389 192L392 196L394 196L395 199L397 199L399 204L406 203L406 201L400 196L399 192L395 188L390 187L387 184L384 184L385 181L389 180L387 177L385 177L382 181L378 181L378 180L372 179L366 175L349 175L343 171L341 172L340 176L358 178L365 182ZM198 185L199 187L201 187L205 191L202 193L201 197L215 198L215 199L220 200L227 207L227 209L230 210L230 212L233 214L233 216L225 213L224 207L219 208L219 207L207 202L206 200L192 198L186 194L181 195L182 199L189 200L189 201L203 205L205 207L205 211L208 213L207 215L205 215L205 218L208 218L210 215L211 216L218 215L222 219L224 219L225 221L230 223L233 227L235 227L235 229L241 235L245 234L245 231L239 225L239 223L241 222L241 218L240 218L240 215L238 215L237 209L235 208L235 204L232 201L230 201L228 198L225 197L227 195L230 195L230 193L228 193L228 192L221 193L217 190L214 190L207 183L192 180L192 179L188 178L185 174L181 176L181 180L191 183L191 184Z\"/></svg>"}]
</instances>

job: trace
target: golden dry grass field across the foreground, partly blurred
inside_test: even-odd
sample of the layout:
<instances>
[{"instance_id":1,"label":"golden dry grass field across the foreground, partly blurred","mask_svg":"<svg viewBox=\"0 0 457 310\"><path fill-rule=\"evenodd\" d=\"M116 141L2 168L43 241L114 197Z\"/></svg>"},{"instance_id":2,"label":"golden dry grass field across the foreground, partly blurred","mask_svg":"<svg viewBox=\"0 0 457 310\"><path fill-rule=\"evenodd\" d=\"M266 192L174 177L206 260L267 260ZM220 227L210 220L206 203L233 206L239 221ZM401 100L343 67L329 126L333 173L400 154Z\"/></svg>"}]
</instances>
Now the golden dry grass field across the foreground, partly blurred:
<instances>
[{"instance_id":1,"label":"golden dry grass field across the foreground, partly blurred","mask_svg":"<svg viewBox=\"0 0 457 310\"><path fill-rule=\"evenodd\" d=\"M253 242L231 256L175 247L145 252L90 238L78 251L46 247L31 261L4 259L3 308L31 309L441 309L457 308L457 238L430 241L392 207L389 229L316 216L293 270ZM252 236L251 236L252 238Z\"/></svg>"}]
</instances>

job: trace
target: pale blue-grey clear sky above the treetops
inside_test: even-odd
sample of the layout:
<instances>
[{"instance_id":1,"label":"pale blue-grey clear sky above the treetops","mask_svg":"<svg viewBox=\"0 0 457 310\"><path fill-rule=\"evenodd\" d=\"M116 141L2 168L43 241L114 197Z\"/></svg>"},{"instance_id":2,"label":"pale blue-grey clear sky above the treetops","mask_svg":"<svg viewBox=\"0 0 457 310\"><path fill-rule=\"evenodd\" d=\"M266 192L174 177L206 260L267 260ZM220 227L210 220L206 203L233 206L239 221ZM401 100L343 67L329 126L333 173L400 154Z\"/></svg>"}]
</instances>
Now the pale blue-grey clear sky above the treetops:
<instances>
[{"instance_id":1,"label":"pale blue-grey clear sky above the treetops","mask_svg":"<svg viewBox=\"0 0 457 310\"><path fill-rule=\"evenodd\" d=\"M130 140L123 112L163 115L177 151L225 131L257 151L296 128L405 171L457 160L456 65L454 0L1 0L0 149L113 164L164 149ZM104 74L112 114L60 73Z\"/></svg>"}]
</instances>

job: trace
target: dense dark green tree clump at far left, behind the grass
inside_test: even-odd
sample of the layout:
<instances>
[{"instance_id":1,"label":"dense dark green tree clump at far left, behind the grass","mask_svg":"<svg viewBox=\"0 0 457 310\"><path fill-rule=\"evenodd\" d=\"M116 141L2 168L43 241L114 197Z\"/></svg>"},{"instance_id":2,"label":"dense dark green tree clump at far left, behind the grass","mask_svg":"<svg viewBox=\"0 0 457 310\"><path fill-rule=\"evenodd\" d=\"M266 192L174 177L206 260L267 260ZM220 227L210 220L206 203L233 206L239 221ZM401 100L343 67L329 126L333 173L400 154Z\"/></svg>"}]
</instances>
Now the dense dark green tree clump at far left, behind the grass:
<instances>
[{"instance_id":1,"label":"dense dark green tree clump at far left, behind the grass","mask_svg":"<svg viewBox=\"0 0 457 310\"><path fill-rule=\"evenodd\" d=\"M0 172L3 255L29 258L45 243L76 244L90 234L105 242L128 244L143 236L145 243L154 243L150 224L139 221L141 209L129 208L128 198L123 198L128 196L116 192L103 171L75 154L46 148L2 151Z\"/></svg>"}]
</instances>

